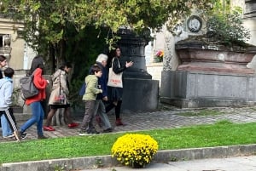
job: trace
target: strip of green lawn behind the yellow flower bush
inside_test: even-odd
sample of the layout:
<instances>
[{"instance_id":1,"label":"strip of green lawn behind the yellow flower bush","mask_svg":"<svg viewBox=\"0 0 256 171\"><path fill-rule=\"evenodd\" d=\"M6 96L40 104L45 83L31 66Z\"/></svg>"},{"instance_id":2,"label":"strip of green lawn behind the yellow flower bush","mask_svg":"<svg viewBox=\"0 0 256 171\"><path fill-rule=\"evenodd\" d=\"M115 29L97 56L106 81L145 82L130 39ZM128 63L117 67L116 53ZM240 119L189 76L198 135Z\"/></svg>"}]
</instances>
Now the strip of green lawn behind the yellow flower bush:
<instances>
[{"instance_id":1,"label":"strip of green lawn behind the yellow flower bush","mask_svg":"<svg viewBox=\"0 0 256 171\"><path fill-rule=\"evenodd\" d=\"M254 144L255 130L256 123L235 124L222 121L212 125L154 129L136 133L150 134L159 143L159 150L172 150ZM123 134L125 133L1 143L0 163L109 155L114 141Z\"/></svg>"}]
</instances>

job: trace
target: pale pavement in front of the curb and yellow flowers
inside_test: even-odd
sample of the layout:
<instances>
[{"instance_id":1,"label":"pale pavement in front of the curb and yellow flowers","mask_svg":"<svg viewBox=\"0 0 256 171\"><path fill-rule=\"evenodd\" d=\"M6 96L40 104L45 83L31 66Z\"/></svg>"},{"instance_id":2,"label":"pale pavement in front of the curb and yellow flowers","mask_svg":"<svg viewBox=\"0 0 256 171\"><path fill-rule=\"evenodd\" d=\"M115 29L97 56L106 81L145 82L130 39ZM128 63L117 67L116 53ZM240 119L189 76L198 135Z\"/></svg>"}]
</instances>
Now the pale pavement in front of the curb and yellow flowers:
<instances>
[{"instance_id":1,"label":"pale pavement in front of the curb and yellow flowers","mask_svg":"<svg viewBox=\"0 0 256 171\"><path fill-rule=\"evenodd\" d=\"M95 168L81 171L255 171L256 156L211 158L182 162L151 163L147 168Z\"/></svg>"}]
</instances>

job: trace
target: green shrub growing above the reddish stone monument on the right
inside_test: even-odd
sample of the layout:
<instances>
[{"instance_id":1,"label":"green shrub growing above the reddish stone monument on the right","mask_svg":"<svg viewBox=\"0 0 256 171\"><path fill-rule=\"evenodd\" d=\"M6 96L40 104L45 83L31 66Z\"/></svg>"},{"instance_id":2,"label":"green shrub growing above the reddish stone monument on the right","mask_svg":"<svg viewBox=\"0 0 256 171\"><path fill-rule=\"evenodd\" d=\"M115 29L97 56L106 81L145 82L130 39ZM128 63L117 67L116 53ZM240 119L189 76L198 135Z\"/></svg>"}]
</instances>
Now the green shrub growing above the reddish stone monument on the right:
<instances>
[{"instance_id":1,"label":"green shrub growing above the reddish stone monument on the right","mask_svg":"<svg viewBox=\"0 0 256 171\"><path fill-rule=\"evenodd\" d=\"M242 26L242 9L231 9L230 1L214 4L213 9L207 11L207 30L211 37L225 46L245 46L251 37L250 31Z\"/></svg>"}]
</instances>

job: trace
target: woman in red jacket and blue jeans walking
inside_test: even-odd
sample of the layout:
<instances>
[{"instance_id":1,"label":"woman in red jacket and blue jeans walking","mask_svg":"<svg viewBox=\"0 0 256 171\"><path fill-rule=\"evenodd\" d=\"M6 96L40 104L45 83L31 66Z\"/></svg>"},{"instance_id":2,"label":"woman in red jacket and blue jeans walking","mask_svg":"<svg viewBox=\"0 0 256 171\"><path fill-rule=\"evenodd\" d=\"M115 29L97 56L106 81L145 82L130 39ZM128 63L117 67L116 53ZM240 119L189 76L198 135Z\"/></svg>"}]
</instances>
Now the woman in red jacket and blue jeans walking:
<instances>
[{"instance_id":1,"label":"woman in red jacket and blue jeans walking","mask_svg":"<svg viewBox=\"0 0 256 171\"><path fill-rule=\"evenodd\" d=\"M26 138L26 129L30 128L34 123L37 123L38 140L47 138L43 134L44 110L41 102L46 98L45 88L49 84L49 81L43 77L43 68L44 58L41 55L37 55L32 60L32 65L28 74L34 74L33 83L38 88L39 93L25 101L26 105L31 106L32 117L20 127L19 134L21 140Z\"/></svg>"}]
</instances>

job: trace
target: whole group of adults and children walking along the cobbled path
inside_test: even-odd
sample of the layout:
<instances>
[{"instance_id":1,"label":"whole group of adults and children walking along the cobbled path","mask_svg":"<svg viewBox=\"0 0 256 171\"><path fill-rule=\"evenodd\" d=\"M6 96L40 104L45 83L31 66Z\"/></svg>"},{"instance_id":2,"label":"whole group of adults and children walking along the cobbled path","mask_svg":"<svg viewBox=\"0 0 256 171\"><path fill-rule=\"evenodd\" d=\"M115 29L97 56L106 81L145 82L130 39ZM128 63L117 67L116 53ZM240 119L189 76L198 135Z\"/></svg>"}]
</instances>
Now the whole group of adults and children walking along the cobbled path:
<instances>
[{"instance_id":1,"label":"whole group of adults and children walking along the cobbled path","mask_svg":"<svg viewBox=\"0 0 256 171\"><path fill-rule=\"evenodd\" d=\"M120 48L116 47L109 54L99 54L96 58L96 64L91 66L89 75L84 78L86 85L83 100L85 103L84 119L80 124L79 135L84 134L99 134L94 124L94 118L96 117L96 123L103 128L103 133L113 131L113 127L108 119L108 111L115 108L116 126L124 126L125 123L121 121L120 109L122 104L122 91L123 88L109 87L108 86L108 60L111 58L111 66L113 72L119 74L125 71L126 68L131 67L133 62L126 62L125 65L120 63ZM0 67L7 65L7 60L4 56L0 55ZM32 66L29 71L29 75L33 74L33 83L38 88L38 94L32 98L28 98L25 101L26 105L30 105L32 109L32 117L29 118L26 123L17 128L15 117L11 109L11 95L13 92L12 77L15 71L12 68L6 68L2 76L0 75L0 115L3 130L3 137L14 137L16 140L24 140L26 138L26 129L30 128L33 124L37 124L38 140L46 139L44 131L55 131L55 128L50 126L52 117L59 108L64 108L64 120L67 123L68 128L77 128L79 123L74 123L71 117L70 104L68 102L69 83L67 79L68 72L72 69L70 63L63 64L52 76L52 89L49 97L50 111L47 115L44 124L44 110L42 101L46 99L46 87L49 84L49 80L43 77L44 74L44 58L41 55L36 56L32 60ZM0 68L1 69L1 68ZM7 91L8 89L8 91ZM55 104L55 96L59 93L59 90L65 94L65 103ZM8 92L8 93L7 93ZM108 102L108 103L107 103ZM106 106L106 104L108 104Z\"/></svg>"}]
</instances>

